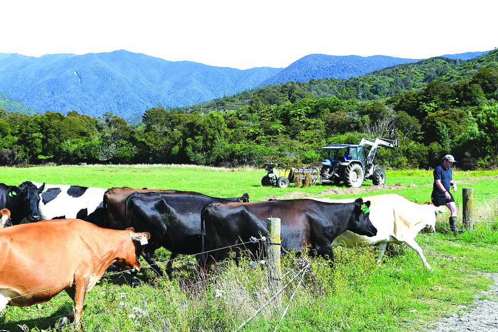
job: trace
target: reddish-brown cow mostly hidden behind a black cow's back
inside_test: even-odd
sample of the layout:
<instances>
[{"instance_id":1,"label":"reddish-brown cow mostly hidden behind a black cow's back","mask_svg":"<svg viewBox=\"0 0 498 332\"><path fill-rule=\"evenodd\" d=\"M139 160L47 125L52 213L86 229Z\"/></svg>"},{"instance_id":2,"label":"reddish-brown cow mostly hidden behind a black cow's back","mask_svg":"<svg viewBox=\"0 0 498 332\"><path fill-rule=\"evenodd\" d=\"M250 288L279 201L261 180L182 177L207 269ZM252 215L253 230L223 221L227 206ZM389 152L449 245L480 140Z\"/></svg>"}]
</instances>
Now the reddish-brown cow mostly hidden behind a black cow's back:
<instances>
[{"instance_id":1,"label":"reddish-brown cow mostly hidden behind a black cow's back","mask_svg":"<svg viewBox=\"0 0 498 332\"><path fill-rule=\"evenodd\" d=\"M104 194L104 209L107 210L107 226L112 229L125 229L129 227L126 223L124 215L125 215L125 201L128 195L132 193L160 193L160 194L198 194L195 192L184 192L178 190L158 190L158 189L133 189L130 187L115 187L108 189ZM230 200L236 200L238 202L249 202L249 195L246 193L242 195L242 197L233 198Z\"/></svg>"}]
</instances>

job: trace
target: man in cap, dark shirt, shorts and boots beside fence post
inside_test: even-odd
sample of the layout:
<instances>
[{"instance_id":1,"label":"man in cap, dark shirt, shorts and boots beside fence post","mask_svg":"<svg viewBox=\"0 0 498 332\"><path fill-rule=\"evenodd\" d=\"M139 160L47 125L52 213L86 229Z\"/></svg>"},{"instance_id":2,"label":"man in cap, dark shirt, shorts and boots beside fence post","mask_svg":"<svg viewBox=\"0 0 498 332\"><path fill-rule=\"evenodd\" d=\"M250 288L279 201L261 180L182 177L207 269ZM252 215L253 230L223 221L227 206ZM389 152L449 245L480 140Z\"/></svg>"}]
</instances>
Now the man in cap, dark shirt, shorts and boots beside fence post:
<instances>
[{"instance_id":1,"label":"man in cap, dark shirt, shorts and boots beside fence post","mask_svg":"<svg viewBox=\"0 0 498 332\"><path fill-rule=\"evenodd\" d=\"M455 204L453 195L450 193L450 187L453 188L453 192L457 191L457 184L453 181L453 172L451 170L451 166L455 162L455 158L451 154L447 154L443 157L443 163L434 170L432 203L437 207L445 204L450 209L450 229L461 233L463 230L457 227L457 205Z\"/></svg>"}]
</instances>

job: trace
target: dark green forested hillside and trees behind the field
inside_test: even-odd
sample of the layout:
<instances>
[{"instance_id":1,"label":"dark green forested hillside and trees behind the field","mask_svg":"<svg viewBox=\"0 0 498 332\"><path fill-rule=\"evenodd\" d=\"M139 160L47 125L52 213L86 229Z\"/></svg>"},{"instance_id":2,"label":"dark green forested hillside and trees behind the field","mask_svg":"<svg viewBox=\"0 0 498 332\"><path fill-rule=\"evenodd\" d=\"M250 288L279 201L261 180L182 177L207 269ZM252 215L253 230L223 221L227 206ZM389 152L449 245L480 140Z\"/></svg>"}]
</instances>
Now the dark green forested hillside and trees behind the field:
<instances>
[{"instance_id":1,"label":"dark green forested hillside and trees behind the field","mask_svg":"<svg viewBox=\"0 0 498 332\"><path fill-rule=\"evenodd\" d=\"M0 163L320 163L321 147L395 129L384 167L427 168L451 152L464 169L498 166L498 51L431 58L339 80L278 84L183 109L145 111L133 128L108 112L0 112Z\"/></svg>"}]
</instances>

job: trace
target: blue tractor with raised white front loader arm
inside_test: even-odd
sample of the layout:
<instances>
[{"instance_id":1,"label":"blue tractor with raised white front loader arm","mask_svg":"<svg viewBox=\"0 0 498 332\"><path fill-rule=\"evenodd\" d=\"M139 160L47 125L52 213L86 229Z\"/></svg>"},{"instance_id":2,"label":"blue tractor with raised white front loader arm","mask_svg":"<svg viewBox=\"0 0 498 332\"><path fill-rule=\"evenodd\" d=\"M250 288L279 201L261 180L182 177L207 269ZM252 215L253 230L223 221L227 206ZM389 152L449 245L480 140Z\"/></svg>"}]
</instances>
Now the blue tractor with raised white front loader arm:
<instances>
[{"instance_id":1,"label":"blue tractor with raised white front loader arm","mask_svg":"<svg viewBox=\"0 0 498 332\"><path fill-rule=\"evenodd\" d=\"M366 145L371 145L370 150ZM322 147L329 150L327 159L322 162L320 181L325 185L339 185L359 188L363 181L372 180L373 185L385 183L385 172L373 162L379 146L399 146L399 134L391 131L391 137L363 138L359 144L331 144Z\"/></svg>"}]
</instances>

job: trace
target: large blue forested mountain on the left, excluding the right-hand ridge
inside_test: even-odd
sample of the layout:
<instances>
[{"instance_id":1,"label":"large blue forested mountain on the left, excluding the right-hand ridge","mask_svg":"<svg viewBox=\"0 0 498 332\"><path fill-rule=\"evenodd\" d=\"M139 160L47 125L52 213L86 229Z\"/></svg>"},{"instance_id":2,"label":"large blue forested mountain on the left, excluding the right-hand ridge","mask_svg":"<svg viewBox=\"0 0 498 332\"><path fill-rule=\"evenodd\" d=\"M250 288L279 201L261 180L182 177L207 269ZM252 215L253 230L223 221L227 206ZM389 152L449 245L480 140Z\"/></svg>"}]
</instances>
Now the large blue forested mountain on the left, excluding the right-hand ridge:
<instances>
[{"instance_id":1,"label":"large blue forested mountain on the left, excluding the right-hand ridge","mask_svg":"<svg viewBox=\"0 0 498 332\"><path fill-rule=\"evenodd\" d=\"M159 104L188 106L259 86L281 68L239 70L127 51L39 58L0 54L0 92L33 110L122 117Z\"/></svg>"}]
</instances>

